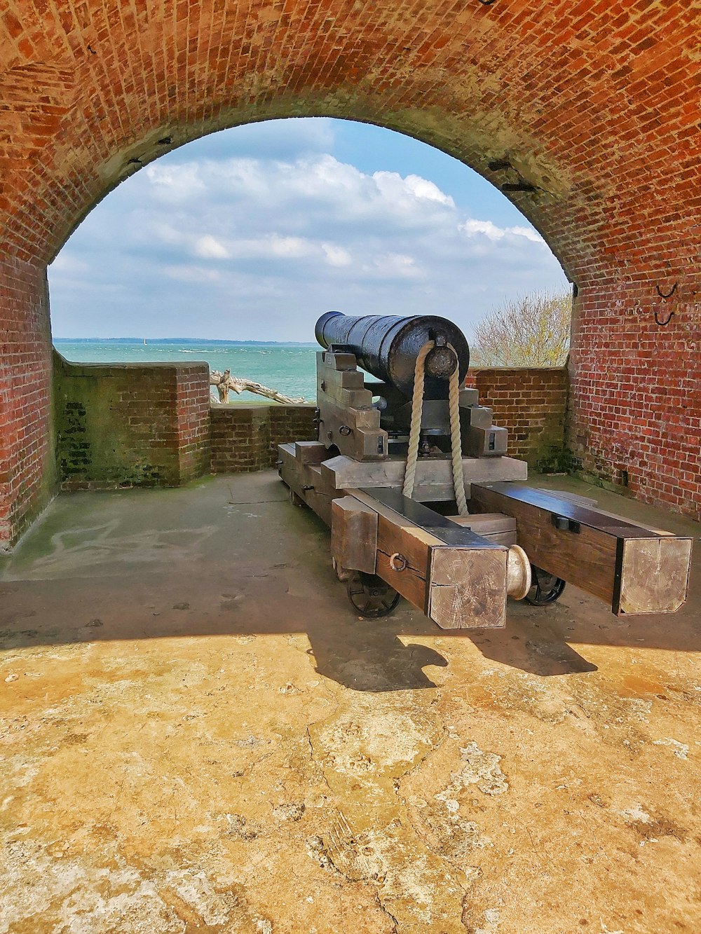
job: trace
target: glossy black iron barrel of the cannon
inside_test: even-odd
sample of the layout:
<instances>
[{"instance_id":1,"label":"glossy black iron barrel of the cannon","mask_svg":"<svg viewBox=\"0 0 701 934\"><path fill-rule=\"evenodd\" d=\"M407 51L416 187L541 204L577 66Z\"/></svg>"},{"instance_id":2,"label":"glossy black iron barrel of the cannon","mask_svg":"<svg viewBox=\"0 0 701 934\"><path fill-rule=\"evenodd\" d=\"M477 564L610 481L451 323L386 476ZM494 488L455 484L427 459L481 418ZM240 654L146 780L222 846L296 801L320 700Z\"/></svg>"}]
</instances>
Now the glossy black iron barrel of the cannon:
<instances>
[{"instance_id":1,"label":"glossy black iron barrel of the cannon","mask_svg":"<svg viewBox=\"0 0 701 934\"><path fill-rule=\"evenodd\" d=\"M423 345L436 341L426 357L426 396L444 395L448 377L457 366L462 382L470 362L465 335L457 325L435 315L364 315L357 318L340 311L328 311L317 321L316 338L324 348L344 347L355 354L367 373L410 396L414 386L414 367ZM446 350L451 344L455 355Z\"/></svg>"}]
</instances>

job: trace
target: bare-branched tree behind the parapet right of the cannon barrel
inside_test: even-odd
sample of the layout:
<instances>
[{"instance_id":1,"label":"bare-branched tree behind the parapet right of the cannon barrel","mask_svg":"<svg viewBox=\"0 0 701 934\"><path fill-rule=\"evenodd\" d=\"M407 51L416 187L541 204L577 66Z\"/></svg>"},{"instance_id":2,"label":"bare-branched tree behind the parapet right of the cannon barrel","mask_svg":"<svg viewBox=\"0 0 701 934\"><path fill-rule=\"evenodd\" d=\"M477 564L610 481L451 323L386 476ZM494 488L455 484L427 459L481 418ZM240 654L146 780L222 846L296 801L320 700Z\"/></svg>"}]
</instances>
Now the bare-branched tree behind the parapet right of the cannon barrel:
<instances>
[{"instance_id":1,"label":"bare-branched tree behind the parapet right of the cannon barrel","mask_svg":"<svg viewBox=\"0 0 701 934\"><path fill-rule=\"evenodd\" d=\"M478 366L564 366L569 349L572 296L538 291L485 315L474 329Z\"/></svg>"}]
</instances>

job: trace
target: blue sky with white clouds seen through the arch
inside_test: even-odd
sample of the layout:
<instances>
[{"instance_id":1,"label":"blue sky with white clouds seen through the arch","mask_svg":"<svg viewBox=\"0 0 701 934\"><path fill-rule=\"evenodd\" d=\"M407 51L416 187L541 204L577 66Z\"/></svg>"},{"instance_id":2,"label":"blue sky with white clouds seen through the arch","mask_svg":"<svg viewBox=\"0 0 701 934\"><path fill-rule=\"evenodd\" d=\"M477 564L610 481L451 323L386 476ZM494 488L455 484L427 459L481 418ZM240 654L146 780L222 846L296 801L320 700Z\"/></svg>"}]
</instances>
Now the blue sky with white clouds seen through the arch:
<instances>
[{"instance_id":1,"label":"blue sky with white clouds seen through the arch","mask_svg":"<svg viewBox=\"0 0 701 934\"><path fill-rule=\"evenodd\" d=\"M268 120L195 140L107 195L49 267L54 337L314 340L325 311L472 325L567 289L493 185L408 136Z\"/></svg>"}]
</instances>

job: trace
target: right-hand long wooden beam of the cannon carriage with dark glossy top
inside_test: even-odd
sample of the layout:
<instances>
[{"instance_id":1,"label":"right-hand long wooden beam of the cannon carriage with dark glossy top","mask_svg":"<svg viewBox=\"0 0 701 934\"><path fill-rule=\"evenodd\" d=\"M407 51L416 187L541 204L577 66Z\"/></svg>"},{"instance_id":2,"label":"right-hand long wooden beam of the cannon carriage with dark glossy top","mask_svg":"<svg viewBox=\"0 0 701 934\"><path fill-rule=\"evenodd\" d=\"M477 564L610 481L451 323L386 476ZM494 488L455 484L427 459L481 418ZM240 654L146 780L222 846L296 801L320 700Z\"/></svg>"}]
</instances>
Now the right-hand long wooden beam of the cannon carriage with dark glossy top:
<instances>
[{"instance_id":1,"label":"right-hand long wooden beam of the cannon carriage with dark glossy top","mask_svg":"<svg viewBox=\"0 0 701 934\"><path fill-rule=\"evenodd\" d=\"M474 484L470 502L514 517L532 564L609 602L617 616L670 613L686 600L691 539L515 483ZM577 523L579 531L555 528L553 517Z\"/></svg>"}]
</instances>

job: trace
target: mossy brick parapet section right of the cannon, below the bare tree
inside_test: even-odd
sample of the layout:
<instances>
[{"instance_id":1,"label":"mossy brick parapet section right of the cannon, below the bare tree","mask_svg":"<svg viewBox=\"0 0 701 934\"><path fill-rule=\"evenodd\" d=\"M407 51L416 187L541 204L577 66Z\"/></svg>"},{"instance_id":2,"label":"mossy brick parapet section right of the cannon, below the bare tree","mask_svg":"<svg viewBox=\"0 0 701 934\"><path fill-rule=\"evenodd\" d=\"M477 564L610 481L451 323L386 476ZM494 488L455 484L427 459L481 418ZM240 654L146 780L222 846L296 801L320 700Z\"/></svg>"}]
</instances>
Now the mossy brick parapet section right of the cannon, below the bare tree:
<instances>
[{"instance_id":1,"label":"mossy brick parapet section right of the cannon, below the bare tree","mask_svg":"<svg viewBox=\"0 0 701 934\"><path fill-rule=\"evenodd\" d=\"M490 367L470 370L465 385L479 391L479 403L494 410L494 424L508 429L508 456L527 460L537 471L565 470L567 370Z\"/></svg>"}]
</instances>

